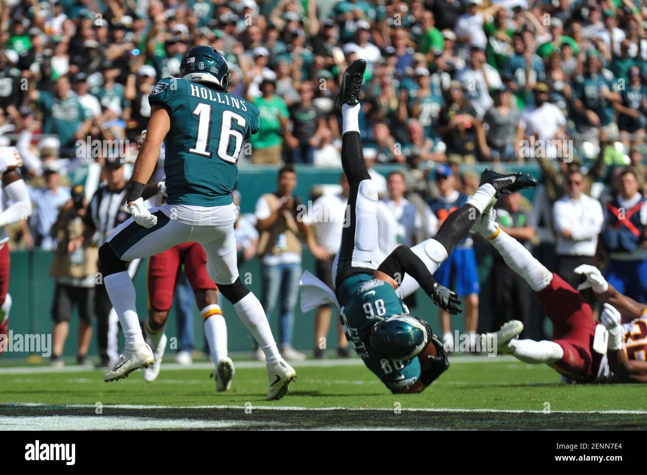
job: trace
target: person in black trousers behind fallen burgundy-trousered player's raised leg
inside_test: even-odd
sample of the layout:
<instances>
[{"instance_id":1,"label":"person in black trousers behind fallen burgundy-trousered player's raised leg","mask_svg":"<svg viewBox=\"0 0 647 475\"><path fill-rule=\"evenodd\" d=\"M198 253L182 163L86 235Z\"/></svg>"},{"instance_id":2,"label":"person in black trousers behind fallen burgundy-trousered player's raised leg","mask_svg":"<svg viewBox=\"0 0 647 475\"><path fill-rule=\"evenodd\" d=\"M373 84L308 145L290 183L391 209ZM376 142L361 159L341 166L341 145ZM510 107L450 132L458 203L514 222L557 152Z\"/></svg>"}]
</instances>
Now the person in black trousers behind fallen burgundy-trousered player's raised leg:
<instances>
[{"instance_id":1,"label":"person in black trousers behind fallen burgundy-trousered player's raised leg","mask_svg":"<svg viewBox=\"0 0 647 475\"><path fill-rule=\"evenodd\" d=\"M536 235L530 223L528 210L521 208L521 193L501 195L496 208L496 220L501 229L526 247ZM491 331L509 320L528 323L530 309L530 287L503 261L501 254L494 251L494 263L490 271L490 309L492 311Z\"/></svg>"}]
</instances>

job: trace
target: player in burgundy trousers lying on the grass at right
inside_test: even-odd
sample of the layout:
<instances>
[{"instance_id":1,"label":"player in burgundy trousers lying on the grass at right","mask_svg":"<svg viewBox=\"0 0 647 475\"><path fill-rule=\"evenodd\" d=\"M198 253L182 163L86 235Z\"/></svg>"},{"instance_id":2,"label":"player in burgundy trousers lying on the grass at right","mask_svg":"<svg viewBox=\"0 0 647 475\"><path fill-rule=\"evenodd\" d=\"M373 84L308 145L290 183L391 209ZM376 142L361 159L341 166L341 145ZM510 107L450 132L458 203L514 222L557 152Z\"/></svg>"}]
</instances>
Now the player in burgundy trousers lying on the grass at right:
<instances>
[{"instance_id":1,"label":"player in burgundy trousers lying on the grass at right","mask_svg":"<svg viewBox=\"0 0 647 475\"><path fill-rule=\"evenodd\" d=\"M518 339L523 323L510 320L496 335L498 351L530 364L545 363L567 382L647 382L647 305L620 294L592 265L575 272L586 282L573 289L532 257L529 250L502 230L490 210L474 225L501 253L505 263L530 285L553 322L553 340ZM604 308L596 325L591 307L579 290L591 287ZM620 324L620 312L633 320Z\"/></svg>"}]
</instances>

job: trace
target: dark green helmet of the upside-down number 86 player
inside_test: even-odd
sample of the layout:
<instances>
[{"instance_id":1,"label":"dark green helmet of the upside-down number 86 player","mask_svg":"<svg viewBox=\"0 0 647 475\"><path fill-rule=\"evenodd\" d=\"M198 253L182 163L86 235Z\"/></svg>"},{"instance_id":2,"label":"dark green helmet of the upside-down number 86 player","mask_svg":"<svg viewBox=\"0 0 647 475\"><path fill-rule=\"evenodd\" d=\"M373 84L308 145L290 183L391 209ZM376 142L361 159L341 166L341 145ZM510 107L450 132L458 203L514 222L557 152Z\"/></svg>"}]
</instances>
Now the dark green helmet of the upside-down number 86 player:
<instances>
[{"instance_id":1,"label":"dark green helmet of the upside-down number 86 player","mask_svg":"<svg viewBox=\"0 0 647 475\"><path fill-rule=\"evenodd\" d=\"M389 359L408 360L419 355L432 337L428 324L413 315L399 313L380 320L371 329L371 348Z\"/></svg>"}]
</instances>

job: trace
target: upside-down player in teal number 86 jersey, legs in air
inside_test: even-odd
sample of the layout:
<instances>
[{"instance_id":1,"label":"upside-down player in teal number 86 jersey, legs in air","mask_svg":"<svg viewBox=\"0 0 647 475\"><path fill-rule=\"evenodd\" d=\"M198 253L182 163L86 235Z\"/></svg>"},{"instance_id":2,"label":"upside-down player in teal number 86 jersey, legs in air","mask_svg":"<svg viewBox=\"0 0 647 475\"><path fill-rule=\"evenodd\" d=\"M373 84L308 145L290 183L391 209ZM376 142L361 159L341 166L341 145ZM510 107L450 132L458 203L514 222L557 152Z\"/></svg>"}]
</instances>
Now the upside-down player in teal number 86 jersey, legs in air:
<instances>
[{"instance_id":1,"label":"upside-down player in teal number 86 jersey, legs in air","mask_svg":"<svg viewBox=\"0 0 647 475\"><path fill-rule=\"evenodd\" d=\"M433 239L413 248L401 245L379 263L377 188L364 164L358 126L365 69L364 60L348 67L336 100L343 115L342 166L350 193L342 245L333 265L335 297L346 337L369 370L393 393L417 393L437 379L449 363L431 327L410 315L401 299L422 287L436 305L459 313L461 302L456 294L435 282L433 272L492 199L501 192L536 186L537 182L524 173L484 171L479 189L448 215ZM307 307L303 297L302 307Z\"/></svg>"}]
</instances>

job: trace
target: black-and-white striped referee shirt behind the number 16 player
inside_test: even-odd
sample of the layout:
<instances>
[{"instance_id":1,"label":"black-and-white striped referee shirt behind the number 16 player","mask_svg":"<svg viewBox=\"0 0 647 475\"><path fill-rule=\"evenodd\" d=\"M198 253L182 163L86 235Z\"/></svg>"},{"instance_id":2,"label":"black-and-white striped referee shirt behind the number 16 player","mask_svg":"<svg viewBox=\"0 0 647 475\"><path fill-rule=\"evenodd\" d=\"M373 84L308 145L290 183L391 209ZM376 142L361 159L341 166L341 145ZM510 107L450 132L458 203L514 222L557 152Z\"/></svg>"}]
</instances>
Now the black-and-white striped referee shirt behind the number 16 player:
<instances>
[{"instance_id":1,"label":"black-and-white striped referee shirt behind the number 16 player","mask_svg":"<svg viewBox=\"0 0 647 475\"><path fill-rule=\"evenodd\" d=\"M100 246L108 239L111 232L126 221L130 214L126 208L126 190L111 191L106 185L96 190L85 215L85 223L96 229L94 241Z\"/></svg>"}]
</instances>

